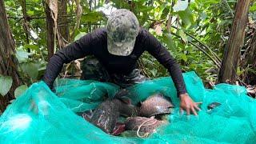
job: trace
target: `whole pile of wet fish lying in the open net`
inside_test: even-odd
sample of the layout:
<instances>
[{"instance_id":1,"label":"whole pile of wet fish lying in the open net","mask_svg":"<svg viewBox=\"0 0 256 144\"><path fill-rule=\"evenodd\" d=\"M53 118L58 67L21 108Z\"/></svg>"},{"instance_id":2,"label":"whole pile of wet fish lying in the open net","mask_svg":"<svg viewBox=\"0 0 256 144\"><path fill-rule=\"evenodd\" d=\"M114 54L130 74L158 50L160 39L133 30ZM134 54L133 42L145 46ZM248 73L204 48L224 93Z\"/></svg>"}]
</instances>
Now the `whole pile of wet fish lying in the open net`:
<instances>
[{"instance_id":1,"label":"whole pile of wet fish lying in the open net","mask_svg":"<svg viewBox=\"0 0 256 144\"><path fill-rule=\"evenodd\" d=\"M170 100L162 94L154 94L140 102L139 106L134 106L130 98L126 98L127 93L126 90L120 90L114 98L106 99L94 111L80 115L107 134L119 135L131 131L142 138L167 123L163 116L170 114L174 108Z\"/></svg>"}]
</instances>

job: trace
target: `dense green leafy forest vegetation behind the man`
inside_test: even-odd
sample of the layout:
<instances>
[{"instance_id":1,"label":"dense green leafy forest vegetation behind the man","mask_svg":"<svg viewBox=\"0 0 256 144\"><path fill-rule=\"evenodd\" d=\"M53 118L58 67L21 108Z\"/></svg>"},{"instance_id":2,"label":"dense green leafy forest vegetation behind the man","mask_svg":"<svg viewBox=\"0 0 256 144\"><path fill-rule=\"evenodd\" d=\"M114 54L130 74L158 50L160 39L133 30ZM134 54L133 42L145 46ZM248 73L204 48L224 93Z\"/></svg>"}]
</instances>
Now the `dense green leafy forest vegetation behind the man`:
<instances>
[{"instance_id":1,"label":"dense green leafy forest vegetation behind the man","mask_svg":"<svg viewBox=\"0 0 256 144\"><path fill-rule=\"evenodd\" d=\"M166 46L182 70L194 70L204 82L213 84L218 80L237 3L237 0L6 0L4 4L21 79L15 95L42 78L47 61L56 50L106 26L107 16L115 8L133 11L141 26ZM241 85L255 85L256 51L255 54L252 51L256 42L254 1L250 2L246 19L236 79ZM78 78L80 62L64 66L60 77ZM148 77L169 75L150 54L143 54L138 64ZM2 74L0 82L4 82L0 94L6 95L13 78Z\"/></svg>"}]
</instances>

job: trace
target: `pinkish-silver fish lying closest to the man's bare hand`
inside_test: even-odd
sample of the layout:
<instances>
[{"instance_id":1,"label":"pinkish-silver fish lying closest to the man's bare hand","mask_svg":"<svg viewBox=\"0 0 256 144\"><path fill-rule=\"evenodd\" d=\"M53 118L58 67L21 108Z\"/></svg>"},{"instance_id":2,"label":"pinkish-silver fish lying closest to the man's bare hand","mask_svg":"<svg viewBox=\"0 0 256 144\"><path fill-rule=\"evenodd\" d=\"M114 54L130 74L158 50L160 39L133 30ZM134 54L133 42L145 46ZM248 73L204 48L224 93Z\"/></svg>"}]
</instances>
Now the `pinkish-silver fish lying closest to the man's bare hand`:
<instances>
[{"instance_id":1,"label":"pinkish-silver fish lying closest to the man's bare hand","mask_svg":"<svg viewBox=\"0 0 256 144\"><path fill-rule=\"evenodd\" d=\"M173 107L174 105L162 94L154 94L141 102L139 115L150 118L157 114L170 114L170 108Z\"/></svg>"}]
</instances>

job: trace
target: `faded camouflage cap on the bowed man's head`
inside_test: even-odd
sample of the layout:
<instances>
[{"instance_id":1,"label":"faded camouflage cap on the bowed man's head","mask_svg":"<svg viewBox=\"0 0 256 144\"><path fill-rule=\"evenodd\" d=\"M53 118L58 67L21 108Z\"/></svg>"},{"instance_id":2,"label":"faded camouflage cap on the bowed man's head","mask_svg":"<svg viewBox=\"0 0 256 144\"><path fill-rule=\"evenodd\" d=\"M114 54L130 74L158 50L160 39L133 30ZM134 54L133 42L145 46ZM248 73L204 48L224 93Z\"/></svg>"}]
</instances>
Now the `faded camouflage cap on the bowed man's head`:
<instances>
[{"instance_id":1,"label":"faded camouflage cap on the bowed man's head","mask_svg":"<svg viewBox=\"0 0 256 144\"><path fill-rule=\"evenodd\" d=\"M107 21L107 50L114 55L129 55L134 50L138 30L138 19L130 10L115 10Z\"/></svg>"}]
</instances>

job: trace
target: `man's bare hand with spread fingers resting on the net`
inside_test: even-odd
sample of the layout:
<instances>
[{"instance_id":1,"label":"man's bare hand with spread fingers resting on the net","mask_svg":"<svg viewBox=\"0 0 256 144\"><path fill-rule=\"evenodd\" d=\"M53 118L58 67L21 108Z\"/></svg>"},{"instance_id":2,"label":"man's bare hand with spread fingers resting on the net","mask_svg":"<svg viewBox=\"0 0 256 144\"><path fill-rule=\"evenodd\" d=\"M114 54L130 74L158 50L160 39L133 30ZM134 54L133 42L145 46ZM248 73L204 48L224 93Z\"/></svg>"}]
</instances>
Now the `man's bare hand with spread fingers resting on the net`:
<instances>
[{"instance_id":1,"label":"man's bare hand with spread fingers resting on the net","mask_svg":"<svg viewBox=\"0 0 256 144\"><path fill-rule=\"evenodd\" d=\"M189 94L180 94L179 95L181 102L180 102L180 110L181 112L183 110L186 110L186 114L190 115L190 112L192 112L194 115L198 115L197 111L200 110L198 107L198 104L201 104L201 102L194 102Z\"/></svg>"}]
</instances>

